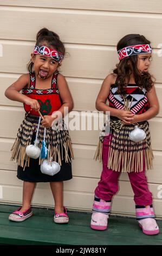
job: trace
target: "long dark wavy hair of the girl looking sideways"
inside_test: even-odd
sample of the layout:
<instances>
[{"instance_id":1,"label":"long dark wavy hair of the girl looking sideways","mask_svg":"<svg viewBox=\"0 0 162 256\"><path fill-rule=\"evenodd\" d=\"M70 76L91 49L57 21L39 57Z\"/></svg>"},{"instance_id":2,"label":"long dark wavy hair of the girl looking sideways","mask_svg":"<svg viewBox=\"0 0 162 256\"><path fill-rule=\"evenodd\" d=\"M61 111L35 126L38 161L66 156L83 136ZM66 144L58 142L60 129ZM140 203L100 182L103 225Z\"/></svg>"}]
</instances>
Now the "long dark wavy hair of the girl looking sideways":
<instances>
[{"instance_id":1,"label":"long dark wavy hair of the girl looking sideways","mask_svg":"<svg viewBox=\"0 0 162 256\"><path fill-rule=\"evenodd\" d=\"M150 41L148 41L144 35L129 34L120 39L116 48L117 51L119 51L124 47L138 44L150 44ZM148 72L141 74L137 68L137 60L138 55L125 57L120 60L119 64L116 64L116 68L113 70L113 73L118 76L118 93L120 95L126 94L125 87L129 83L131 72L133 72L135 83L140 89L145 88L148 92L153 86L153 77ZM129 65L129 63L132 65Z\"/></svg>"}]
</instances>

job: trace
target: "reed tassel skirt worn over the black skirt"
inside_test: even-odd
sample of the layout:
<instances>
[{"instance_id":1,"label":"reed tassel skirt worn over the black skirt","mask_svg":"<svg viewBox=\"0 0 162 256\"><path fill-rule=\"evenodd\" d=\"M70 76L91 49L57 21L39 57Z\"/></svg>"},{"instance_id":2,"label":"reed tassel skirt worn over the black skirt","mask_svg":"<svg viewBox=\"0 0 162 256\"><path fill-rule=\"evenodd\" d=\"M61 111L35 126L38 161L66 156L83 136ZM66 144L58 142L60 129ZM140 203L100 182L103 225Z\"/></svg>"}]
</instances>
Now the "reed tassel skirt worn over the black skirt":
<instances>
[{"instance_id":1,"label":"reed tassel skirt worn over the black skirt","mask_svg":"<svg viewBox=\"0 0 162 256\"><path fill-rule=\"evenodd\" d=\"M31 138L33 132L37 129L38 119L32 118L32 115L25 114L25 118L18 129L17 138L11 148L11 161L15 161L19 166L29 167L30 157L25 153L25 149L28 145L31 144ZM46 131L46 143L48 148L48 158L49 154L53 157L53 161L59 162L64 159L65 162L71 162L71 159L74 159L72 143L70 140L69 133L67 129L63 130L64 123L63 120L61 124L59 123L58 127L62 126L62 130L55 127L54 130L47 129ZM42 141L44 136L44 127L40 125L38 132L38 147L41 149ZM70 154L69 154L70 153ZM43 159L39 159L41 164Z\"/></svg>"}]
</instances>

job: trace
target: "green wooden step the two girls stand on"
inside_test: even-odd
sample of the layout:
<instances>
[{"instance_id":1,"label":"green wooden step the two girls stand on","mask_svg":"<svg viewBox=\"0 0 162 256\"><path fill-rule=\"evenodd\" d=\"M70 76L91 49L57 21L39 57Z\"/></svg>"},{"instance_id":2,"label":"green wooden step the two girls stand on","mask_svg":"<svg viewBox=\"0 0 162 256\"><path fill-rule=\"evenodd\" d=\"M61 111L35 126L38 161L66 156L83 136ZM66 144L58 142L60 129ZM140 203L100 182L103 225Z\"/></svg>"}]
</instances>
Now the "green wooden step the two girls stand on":
<instances>
[{"instance_id":1,"label":"green wooden step the two girls stand on","mask_svg":"<svg viewBox=\"0 0 162 256\"><path fill-rule=\"evenodd\" d=\"M16 206L0 205L0 244L8 245L162 245L162 234L145 235L135 218L110 216L108 229L92 230L90 214L68 212L68 224L53 222L53 210L33 208L23 222L8 220ZM162 221L157 221L162 230Z\"/></svg>"}]
</instances>

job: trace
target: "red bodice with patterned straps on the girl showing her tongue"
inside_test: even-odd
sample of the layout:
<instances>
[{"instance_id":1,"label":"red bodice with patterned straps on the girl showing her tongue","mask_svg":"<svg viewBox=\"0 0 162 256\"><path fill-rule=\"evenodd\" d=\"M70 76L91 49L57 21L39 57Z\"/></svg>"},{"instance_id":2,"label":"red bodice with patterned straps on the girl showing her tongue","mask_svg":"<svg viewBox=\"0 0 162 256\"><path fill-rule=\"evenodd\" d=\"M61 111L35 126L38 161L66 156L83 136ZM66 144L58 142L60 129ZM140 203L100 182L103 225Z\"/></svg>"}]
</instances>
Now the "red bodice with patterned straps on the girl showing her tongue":
<instances>
[{"instance_id":1,"label":"red bodice with patterned straps on the girl showing her tongue","mask_svg":"<svg viewBox=\"0 0 162 256\"><path fill-rule=\"evenodd\" d=\"M30 74L30 86L29 88L22 89L22 94L35 99L40 103L41 109L40 112L42 115L51 115L54 111L57 111L61 105L61 97L59 89L57 88L57 75L59 74L56 71L51 80L51 87L49 89L35 89L35 74ZM24 103L25 112L29 112L31 107ZM39 116L38 112L32 109L30 114Z\"/></svg>"}]
</instances>

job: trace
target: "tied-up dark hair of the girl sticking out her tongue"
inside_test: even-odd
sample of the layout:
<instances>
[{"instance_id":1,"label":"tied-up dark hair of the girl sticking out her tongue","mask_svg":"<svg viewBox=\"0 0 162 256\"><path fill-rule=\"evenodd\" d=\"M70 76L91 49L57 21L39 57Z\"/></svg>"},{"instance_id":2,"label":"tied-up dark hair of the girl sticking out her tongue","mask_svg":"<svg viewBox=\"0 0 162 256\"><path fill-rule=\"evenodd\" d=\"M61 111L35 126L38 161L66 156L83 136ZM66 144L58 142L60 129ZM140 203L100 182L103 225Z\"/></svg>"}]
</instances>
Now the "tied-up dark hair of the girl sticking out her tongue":
<instances>
[{"instance_id":1,"label":"tied-up dark hair of the girl sticking out her tongue","mask_svg":"<svg viewBox=\"0 0 162 256\"><path fill-rule=\"evenodd\" d=\"M48 46L49 48L54 48L57 51L61 52L64 56L65 48L62 41L59 38L59 35L54 33L53 31L49 31L47 28L42 28L38 31L36 36L36 44L38 46ZM27 65L27 70L31 73L33 72L33 62L30 62Z\"/></svg>"}]
</instances>

